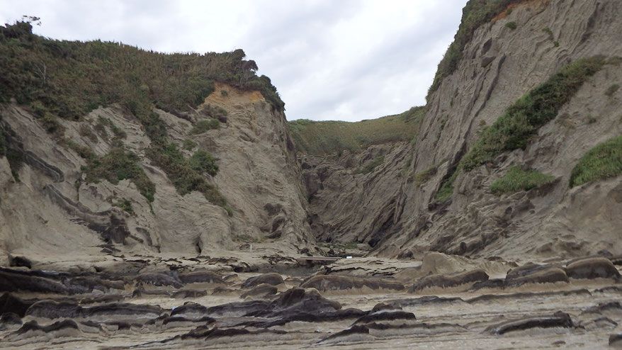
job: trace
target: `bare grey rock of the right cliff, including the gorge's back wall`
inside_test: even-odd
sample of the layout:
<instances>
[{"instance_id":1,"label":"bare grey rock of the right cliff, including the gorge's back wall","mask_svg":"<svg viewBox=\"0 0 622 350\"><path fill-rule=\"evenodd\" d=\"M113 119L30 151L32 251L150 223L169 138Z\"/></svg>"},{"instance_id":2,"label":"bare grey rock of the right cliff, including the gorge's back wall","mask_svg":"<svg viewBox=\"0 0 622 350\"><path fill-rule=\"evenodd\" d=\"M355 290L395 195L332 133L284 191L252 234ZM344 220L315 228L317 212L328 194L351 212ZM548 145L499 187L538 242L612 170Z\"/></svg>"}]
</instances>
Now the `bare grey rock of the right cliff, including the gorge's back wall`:
<instances>
[{"instance_id":1,"label":"bare grey rock of the right cliff, including the gorge's back wall","mask_svg":"<svg viewBox=\"0 0 622 350\"><path fill-rule=\"evenodd\" d=\"M417 144L372 147L337 159L302 157L310 211L320 237L373 245L382 256L439 251L470 256L579 256L620 252L620 177L570 188L573 166L589 149L622 134L622 81L606 64L538 130L526 149L462 171L448 203L443 180L517 98L582 57L622 55L619 1L523 1L475 31L456 72L431 94ZM514 22L513 30L507 23ZM375 154L384 161L355 174ZM553 174L545 188L496 196L490 184L509 166Z\"/></svg>"}]
</instances>

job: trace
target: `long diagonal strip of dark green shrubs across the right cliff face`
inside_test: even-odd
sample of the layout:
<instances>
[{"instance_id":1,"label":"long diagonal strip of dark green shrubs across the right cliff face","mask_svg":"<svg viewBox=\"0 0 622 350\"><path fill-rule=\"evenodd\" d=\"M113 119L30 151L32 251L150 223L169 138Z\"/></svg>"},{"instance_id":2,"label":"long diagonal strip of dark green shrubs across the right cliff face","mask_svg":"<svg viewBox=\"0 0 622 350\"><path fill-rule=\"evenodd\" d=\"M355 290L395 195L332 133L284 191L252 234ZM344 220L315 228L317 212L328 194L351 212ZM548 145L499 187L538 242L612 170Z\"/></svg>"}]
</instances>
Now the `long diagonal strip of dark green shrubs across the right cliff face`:
<instances>
[{"instance_id":1,"label":"long diagonal strip of dark green shrubs across the right cliff face","mask_svg":"<svg viewBox=\"0 0 622 350\"><path fill-rule=\"evenodd\" d=\"M502 152L524 148L538 128L555 118L559 109L603 64L603 57L572 62L519 98L499 119L482 131L460 166L469 171L490 162Z\"/></svg>"}]
</instances>

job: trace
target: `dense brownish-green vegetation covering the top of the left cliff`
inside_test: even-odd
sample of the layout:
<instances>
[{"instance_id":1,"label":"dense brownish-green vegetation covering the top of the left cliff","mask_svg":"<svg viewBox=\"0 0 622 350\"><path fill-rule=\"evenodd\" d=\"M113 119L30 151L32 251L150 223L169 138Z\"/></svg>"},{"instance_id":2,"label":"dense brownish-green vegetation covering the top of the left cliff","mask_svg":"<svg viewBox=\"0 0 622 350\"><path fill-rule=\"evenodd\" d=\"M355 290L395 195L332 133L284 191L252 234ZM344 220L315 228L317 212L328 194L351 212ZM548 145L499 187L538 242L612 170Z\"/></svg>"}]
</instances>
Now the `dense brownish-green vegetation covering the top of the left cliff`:
<instances>
[{"instance_id":1,"label":"dense brownish-green vegetation covering the top of the left cliff","mask_svg":"<svg viewBox=\"0 0 622 350\"><path fill-rule=\"evenodd\" d=\"M98 106L120 103L147 128L157 124L153 106L196 107L214 90L214 81L261 91L283 110L270 79L256 76L255 62L244 60L242 50L164 54L100 40L52 40L32 29L28 22L0 26L0 102L16 98L37 106L42 116L78 120Z\"/></svg>"}]
</instances>

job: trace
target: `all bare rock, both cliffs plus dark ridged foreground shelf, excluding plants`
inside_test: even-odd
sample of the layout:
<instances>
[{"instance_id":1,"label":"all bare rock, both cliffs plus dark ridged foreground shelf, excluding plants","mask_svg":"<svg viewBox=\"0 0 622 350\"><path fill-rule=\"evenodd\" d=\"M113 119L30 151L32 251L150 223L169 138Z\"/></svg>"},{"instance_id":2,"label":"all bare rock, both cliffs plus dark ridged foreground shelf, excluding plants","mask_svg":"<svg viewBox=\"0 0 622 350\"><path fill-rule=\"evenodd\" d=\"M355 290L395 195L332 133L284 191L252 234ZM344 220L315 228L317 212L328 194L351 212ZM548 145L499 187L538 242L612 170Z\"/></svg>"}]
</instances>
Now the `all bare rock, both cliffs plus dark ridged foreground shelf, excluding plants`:
<instances>
[{"instance_id":1,"label":"all bare rock, both cliffs plus dark ridged foreground shelf, excluding plants","mask_svg":"<svg viewBox=\"0 0 622 350\"><path fill-rule=\"evenodd\" d=\"M615 0L519 1L475 31L414 145L297 162L283 113L225 84L191 113L157 110L171 140L219 159L207 179L232 215L198 192L179 195L123 108L59 121L98 155L119 141L135 152L152 203L131 181L86 183L77 147L26 108L2 106L24 164L0 158L0 348L622 346L620 177L568 186L587 149L622 133L621 93L604 94L622 81L619 65L589 77L526 149L460 172L451 201L435 198L482 125L516 98L571 60L622 56L621 13ZM226 120L193 134L208 106ZM555 181L492 194L515 164ZM123 199L133 213L113 205ZM361 244L334 252L316 238ZM296 259L320 253L355 257Z\"/></svg>"}]
</instances>

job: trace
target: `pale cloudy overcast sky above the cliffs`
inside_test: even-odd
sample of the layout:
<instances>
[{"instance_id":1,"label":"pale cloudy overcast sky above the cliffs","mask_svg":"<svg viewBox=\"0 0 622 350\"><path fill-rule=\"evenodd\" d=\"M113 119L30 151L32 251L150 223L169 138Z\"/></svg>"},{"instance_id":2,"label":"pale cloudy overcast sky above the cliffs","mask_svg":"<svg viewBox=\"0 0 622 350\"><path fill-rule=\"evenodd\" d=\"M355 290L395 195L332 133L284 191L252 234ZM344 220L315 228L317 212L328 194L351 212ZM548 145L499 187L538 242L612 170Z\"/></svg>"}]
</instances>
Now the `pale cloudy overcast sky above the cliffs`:
<instances>
[{"instance_id":1,"label":"pale cloudy overcast sky above the cliffs","mask_svg":"<svg viewBox=\"0 0 622 350\"><path fill-rule=\"evenodd\" d=\"M161 52L241 48L288 120L349 120L425 103L466 0L0 0L0 21L38 16L54 39Z\"/></svg>"}]
</instances>

